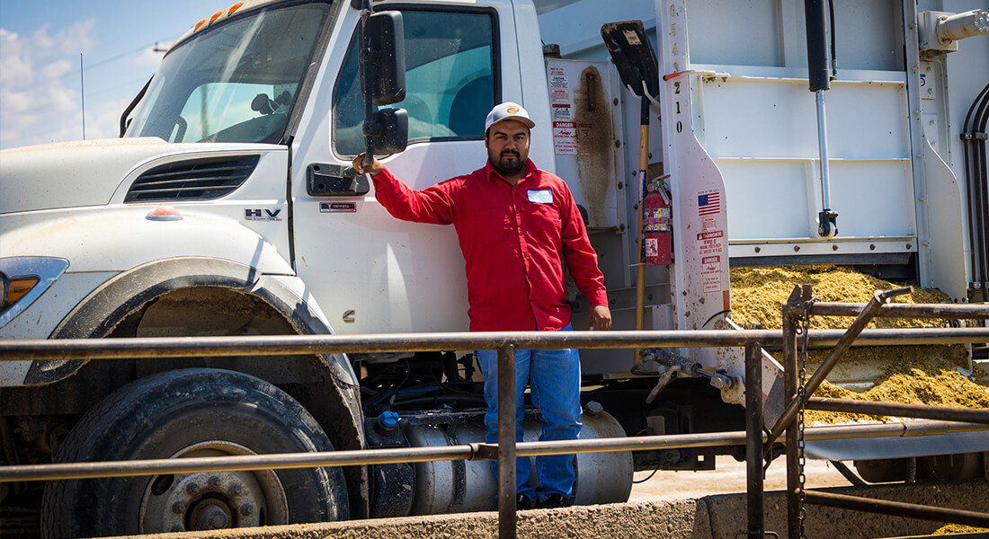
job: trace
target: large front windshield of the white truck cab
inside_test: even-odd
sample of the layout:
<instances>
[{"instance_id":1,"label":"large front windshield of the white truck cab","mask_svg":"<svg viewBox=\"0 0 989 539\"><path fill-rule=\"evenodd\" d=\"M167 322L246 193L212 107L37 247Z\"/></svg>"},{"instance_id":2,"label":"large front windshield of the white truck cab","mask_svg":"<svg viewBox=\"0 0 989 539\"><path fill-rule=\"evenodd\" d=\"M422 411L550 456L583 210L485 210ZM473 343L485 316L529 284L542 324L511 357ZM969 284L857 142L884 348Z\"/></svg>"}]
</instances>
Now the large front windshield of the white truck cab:
<instances>
[{"instance_id":1,"label":"large front windshield of the white truck cab","mask_svg":"<svg viewBox=\"0 0 989 539\"><path fill-rule=\"evenodd\" d=\"M173 48L126 136L279 142L328 11L321 2L261 9Z\"/></svg>"}]
</instances>

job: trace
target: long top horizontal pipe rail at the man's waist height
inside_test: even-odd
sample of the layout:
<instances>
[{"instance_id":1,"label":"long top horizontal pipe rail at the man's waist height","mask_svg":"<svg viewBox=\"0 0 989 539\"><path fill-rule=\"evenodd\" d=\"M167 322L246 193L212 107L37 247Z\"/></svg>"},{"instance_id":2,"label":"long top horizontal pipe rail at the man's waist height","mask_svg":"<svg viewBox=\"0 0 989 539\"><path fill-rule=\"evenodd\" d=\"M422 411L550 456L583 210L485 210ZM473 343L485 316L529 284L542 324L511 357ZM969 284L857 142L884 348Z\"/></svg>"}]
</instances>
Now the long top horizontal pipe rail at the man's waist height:
<instances>
[{"instance_id":1,"label":"long top horizontal pipe rail at the man's waist height","mask_svg":"<svg viewBox=\"0 0 989 539\"><path fill-rule=\"evenodd\" d=\"M958 306L953 306L958 307ZM989 311L989 308L986 308ZM966 314L967 315L967 314ZM841 329L810 331L808 344L834 346ZM865 329L854 346L989 342L989 327ZM359 352L491 350L516 348L649 348L781 346L784 331L490 331L391 333L386 335L263 335L135 337L127 339L0 340L0 361L139 359L198 356L305 355Z\"/></svg>"}]
</instances>

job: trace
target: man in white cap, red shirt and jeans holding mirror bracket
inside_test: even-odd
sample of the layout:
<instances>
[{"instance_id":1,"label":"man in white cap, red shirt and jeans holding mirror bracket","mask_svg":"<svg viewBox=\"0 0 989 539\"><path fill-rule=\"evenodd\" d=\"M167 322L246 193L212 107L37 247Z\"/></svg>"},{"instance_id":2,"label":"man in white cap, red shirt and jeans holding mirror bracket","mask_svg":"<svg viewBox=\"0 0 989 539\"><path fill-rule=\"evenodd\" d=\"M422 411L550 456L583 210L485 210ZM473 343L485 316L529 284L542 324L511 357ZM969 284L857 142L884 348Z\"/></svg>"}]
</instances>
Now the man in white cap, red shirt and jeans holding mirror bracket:
<instances>
[{"instance_id":1,"label":"man in white cap, red shirt and jeans holding mirror bracket","mask_svg":"<svg viewBox=\"0 0 989 539\"><path fill-rule=\"evenodd\" d=\"M604 276L587 239L574 197L559 177L529 160L529 130L535 123L514 103L502 103L485 123L488 163L478 170L414 191L377 159L354 168L369 173L378 201L398 219L454 225L467 262L472 331L570 330L563 263L590 300L590 328L611 327ZM497 440L497 352L478 350L485 375L488 442ZM518 350L516 434L522 439L523 397L531 385L541 412L540 440L577 439L581 431L581 364L576 349ZM496 463L495 463L496 464ZM538 489L529 486L528 458L517 461L520 509L570 505L574 456L536 459ZM494 467L497 474L497 467Z\"/></svg>"}]
</instances>

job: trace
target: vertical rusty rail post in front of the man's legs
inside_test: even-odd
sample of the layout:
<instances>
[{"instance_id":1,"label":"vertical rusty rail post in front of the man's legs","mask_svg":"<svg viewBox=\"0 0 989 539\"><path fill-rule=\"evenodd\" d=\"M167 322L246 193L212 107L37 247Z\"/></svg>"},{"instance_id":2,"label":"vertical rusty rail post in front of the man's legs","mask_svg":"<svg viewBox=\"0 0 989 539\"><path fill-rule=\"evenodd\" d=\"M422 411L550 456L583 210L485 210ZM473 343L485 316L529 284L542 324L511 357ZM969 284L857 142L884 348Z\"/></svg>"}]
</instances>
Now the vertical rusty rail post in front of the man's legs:
<instances>
[{"instance_id":1,"label":"vertical rusty rail post in front of the man's legs","mask_svg":"<svg viewBox=\"0 0 989 539\"><path fill-rule=\"evenodd\" d=\"M515 345L497 350L497 532L515 539Z\"/></svg>"}]
</instances>

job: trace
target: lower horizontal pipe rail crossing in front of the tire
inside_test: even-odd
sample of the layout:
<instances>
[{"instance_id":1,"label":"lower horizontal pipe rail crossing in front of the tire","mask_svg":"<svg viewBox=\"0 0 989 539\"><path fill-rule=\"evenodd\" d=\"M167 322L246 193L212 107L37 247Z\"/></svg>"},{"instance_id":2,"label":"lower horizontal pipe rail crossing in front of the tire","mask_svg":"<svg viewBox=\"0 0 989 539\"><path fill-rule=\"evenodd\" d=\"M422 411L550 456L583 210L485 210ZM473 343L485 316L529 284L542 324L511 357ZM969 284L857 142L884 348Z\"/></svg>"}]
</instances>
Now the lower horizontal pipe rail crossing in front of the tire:
<instances>
[{"instance_id":1,"label":"lower horizontal pipe rail crossing in front of the tire","mask_svg":"<svg viewBox=\"0 0 989 539\"><path fill-rule=\"evenodd\" d=\"M981 430L989 431L989 426L953 421L907 421L900 423L810 427L806 431L806 438L808 440L844 440L853 438L925 436L947 432ZM567 455L571 453L609 453L652 449L727 447L745 445L746 439L747 433L738 430L700 434L666 434L625 438L518 442L515 444L515 454L518 457L536 457L540 455ZM313 453L282 453L277 455L237 455L225 457L191 457L187 459L148 459L2 466L0 467L0 483L156 476L198 472L363 466L368 464L428 461L495 460L496 449L497 444L473 443L443 447L401 447Z\"/></svg>"}]
</instances>

